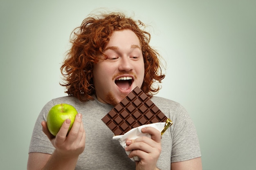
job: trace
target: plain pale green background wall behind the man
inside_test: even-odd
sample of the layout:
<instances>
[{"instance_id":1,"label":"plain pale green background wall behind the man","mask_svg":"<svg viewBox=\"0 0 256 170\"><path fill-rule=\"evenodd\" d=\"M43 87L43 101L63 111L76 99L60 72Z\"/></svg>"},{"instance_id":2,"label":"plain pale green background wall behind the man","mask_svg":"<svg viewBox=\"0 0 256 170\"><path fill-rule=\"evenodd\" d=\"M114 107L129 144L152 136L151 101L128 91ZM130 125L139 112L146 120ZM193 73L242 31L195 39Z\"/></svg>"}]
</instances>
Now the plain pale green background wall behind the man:
<instances>
[{"instance_id":1,"label":"plain pale green background wall behind the man","mask_svg":"<svg viewBox=\"0 0 256 170\"><path fill-rule=\"evenodd\" d=\"M0 0L0 170L25 170L36 118L65 95L69 35L94 9L135 15L167 64L158 96L180 102L204 170L256 169L256 1Z\"/></svg>"}]
</instances>

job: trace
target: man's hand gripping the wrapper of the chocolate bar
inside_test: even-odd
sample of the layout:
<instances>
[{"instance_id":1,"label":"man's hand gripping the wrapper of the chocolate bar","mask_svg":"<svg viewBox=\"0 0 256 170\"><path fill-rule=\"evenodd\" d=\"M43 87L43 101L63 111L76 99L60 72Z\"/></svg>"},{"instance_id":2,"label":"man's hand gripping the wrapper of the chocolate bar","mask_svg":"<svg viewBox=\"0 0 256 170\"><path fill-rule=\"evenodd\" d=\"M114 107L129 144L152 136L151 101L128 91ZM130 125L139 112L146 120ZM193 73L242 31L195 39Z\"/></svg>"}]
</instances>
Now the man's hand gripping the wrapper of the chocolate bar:
<instances>
[{"instance_id":1,"label":"man's hand gripping the wrapper of the chocolate bar","mask_svg":"<svg viewBox=\"0 0 256 170\"><path fill-rule=\"evenodd\" d=\"M161 133L159 130L146 127L142 128L141 132L149 133L148 137L139 137L133 140L127 140L126 151L131 151L128 157L138 156L140 161L136 162L136 170L157 170L156 164L161 153Z\"/></svg>"}]
</instances>

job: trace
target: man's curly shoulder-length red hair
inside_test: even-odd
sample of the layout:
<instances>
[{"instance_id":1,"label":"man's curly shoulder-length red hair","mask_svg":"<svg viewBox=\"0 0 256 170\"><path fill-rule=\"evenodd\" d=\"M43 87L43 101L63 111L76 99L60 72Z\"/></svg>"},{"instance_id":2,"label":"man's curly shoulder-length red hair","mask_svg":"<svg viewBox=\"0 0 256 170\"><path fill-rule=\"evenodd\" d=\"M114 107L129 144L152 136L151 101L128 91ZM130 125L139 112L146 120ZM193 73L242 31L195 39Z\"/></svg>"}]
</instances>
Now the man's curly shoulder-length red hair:
<instances>
[{"instance_id":1,"label":"man's curly shoulder-length red hair","mask_svg":"<svg viewBox=\"0 0 256 170\"><path fill-rule=\"evenodd\" d=\"M72 31L70 35L72 46L67 51L61 66L61 74L65 81L61 86L66 87L65 93L77 97L81 102L94 99L92 97L95 93L92 78L94 64L99 62L100 55L105 56L103 50L113 31L124 29L132 30L141 43L145 67L141 90L149 97L157 93L160 87L153 86L153 83L161 83L165 75L160 67L159 53L149 45L150 33L142 28L145 28L145 25L140 20L133 20L119 12L101 13L85 18L81 26Z\"/></svg>"}]
</instances>

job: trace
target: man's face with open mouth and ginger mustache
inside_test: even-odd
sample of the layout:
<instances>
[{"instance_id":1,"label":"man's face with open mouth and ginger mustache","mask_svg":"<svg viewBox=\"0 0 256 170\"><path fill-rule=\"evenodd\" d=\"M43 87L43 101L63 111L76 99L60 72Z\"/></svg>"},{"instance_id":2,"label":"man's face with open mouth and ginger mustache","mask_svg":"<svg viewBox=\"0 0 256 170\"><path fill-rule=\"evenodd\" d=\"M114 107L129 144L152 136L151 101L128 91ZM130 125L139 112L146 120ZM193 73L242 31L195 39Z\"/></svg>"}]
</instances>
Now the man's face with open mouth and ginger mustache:
<instances>
[{"instance_id":1,"label":"man's face with open mouth and ginger mustache","mask_svg":"<svg viewBox=\"0 0 256 170\"><path fill-rule=\"evenodd\" d=\"M129 29L114 31L103 54L108 59L94 65L94 87L100 102L115 106L143 83L145 70L139 38Z\"/></svg>"}]
</instances>

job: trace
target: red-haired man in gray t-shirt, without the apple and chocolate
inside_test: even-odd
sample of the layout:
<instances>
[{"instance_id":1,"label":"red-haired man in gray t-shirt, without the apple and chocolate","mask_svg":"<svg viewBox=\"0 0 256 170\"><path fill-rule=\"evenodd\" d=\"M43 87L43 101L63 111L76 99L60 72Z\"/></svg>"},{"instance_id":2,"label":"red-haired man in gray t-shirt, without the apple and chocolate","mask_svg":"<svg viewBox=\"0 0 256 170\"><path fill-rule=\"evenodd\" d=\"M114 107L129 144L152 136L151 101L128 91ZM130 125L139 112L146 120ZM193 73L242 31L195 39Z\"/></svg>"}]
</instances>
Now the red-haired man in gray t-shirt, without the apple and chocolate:
<instances>
[{"instance_id":1,"label":"red-haired man in gray t-shirt, without the apple and chocolate","mask_svg":"<svg viewBox=\"0 0 256 170\"><path fill-rule=\"evenodd\" d=\"M164 78L159 55L149 46L144 24L122 13L86 18L74 31L72 47L61 73L68 96L48 102L36 121L29 148L28 170L201 170L195 127L180 104L161 97L154 82ZM127 140L125 150L112 140L101 121L136 86L173 121L162 135L152 127L142 129L152 137ZM72 129L63 123L56 137L47 129L49 109L60 103L78 110ZM41 127L43 126L43 132ZM85 137L86 136L86 137ZM140 161L131 161L137 156Z\"/></svg>"}]
</instances>

